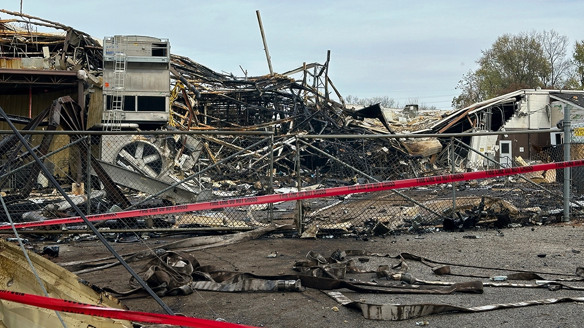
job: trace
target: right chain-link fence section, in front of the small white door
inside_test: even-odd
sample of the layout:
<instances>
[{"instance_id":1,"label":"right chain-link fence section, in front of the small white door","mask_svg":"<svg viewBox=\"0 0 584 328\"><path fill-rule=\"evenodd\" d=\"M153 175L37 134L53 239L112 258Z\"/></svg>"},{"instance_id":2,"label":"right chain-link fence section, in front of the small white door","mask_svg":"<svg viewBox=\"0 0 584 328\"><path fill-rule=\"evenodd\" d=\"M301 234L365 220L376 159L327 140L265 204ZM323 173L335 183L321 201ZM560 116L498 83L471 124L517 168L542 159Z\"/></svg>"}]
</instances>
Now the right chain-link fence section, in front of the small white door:
<instances>
[{"instance_id":1,"label":"right chain-link fence section, in front of the small white door","mask_svg":"<svg viewBox=\"0 0 584 328\"><path fill-rule=\"evenodd\" d=\"M301 150L300 159L305 168L303 188L409 179L563 160L564 146L561 144L530 144L529 152L523 148L516 149L516 152L529 154L523 158L510 156L511 149L502 148L505 144L510 146L510 143L499 142L496 135L492 137L490 154L485 155L485 149L472 148L469 145L471 138L455 137L439 139L442 148L434 149L432 155L418 158L391 151L387 147L374 146L379 144L376 139L307 139L307 142L303 142L305 148ZM577 147L576 144L572 146ZM323 151L328 156L323 156ZM326 157L324 162L323 157ZM314 165L314 158L321 159L319 166ZM577 151L572 152L572 159L580 159ZM573 199L579 199L582 194L577 190L579 169L572 169L575 172L572 180ZM558 169L467 180L454 185L435 184L317 198L304 201L303 229L305 236L317 233L352 233L358 236L542 225L561 221L563 181L563 170ZM573 216L580 215L580 204L575 202L572 207Z\"/></svg>"}]
</instances>

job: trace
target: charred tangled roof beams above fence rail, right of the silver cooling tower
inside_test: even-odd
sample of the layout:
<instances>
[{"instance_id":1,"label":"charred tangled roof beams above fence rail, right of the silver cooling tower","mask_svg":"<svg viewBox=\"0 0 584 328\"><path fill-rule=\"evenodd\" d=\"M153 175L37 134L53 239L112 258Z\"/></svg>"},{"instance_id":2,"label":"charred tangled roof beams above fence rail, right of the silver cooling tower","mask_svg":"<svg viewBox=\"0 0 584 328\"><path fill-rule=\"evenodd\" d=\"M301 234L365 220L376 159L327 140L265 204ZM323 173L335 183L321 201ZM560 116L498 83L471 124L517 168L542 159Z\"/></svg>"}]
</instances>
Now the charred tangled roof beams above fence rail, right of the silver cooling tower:
<instances>
[{"instance_id":1,"label":"charred tangled roof beams above fence rail, right of the silver cooling tower","mask_svg":"<svg viewBox=\"0 0 584 328\"><path fill-rule=\"evenodd\" d=\"M328 62L313 65L319 67L321 73L328 69ZM178 97L173 102L180 128L258 130L272 127L276 134L345 131L345 116L341 111L343 104L340 103L342 98L340 102L330 98L328 86L332 83L326 83L330 82L328 76L314 76L306 70L300 82L280 74L237 78L232 74L211 71L177 55L172 56L172 67L200 92L197 106L192 109L190 126L180 121L180 118L191 115L190 104L185 102L184 97ZM307 85L307 75L315 80L312 86ZM180 84L178 88L184 89Z\"/></svg>"}]
</instances>

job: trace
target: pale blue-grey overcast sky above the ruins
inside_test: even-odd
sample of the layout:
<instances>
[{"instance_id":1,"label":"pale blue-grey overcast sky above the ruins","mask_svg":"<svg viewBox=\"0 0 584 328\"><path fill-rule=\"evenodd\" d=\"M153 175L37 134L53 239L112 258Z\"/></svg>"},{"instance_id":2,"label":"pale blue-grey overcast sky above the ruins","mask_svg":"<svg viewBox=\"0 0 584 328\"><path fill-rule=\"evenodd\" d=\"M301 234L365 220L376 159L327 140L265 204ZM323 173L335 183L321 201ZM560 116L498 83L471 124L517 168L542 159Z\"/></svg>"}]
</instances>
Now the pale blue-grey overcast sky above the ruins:
<instances>
[{"instance_id":1,"label":"pale blue-grey overcast sky above the ruins","mask_svg":"<svg viewBox=\"0 0 584 328\"><path fill-rule=\"evenodd\" d=\"M215 71L269 73L326 60L343 96L408 98L450 109L461 76L496 37L554 29L584 39L582 1L68 1L23 0L23 13L94 37L168 38L172 53ZM19 11L20 0L2 0ZM0 15L6 19L8 15Z\"/></svg>"}]
</instances>

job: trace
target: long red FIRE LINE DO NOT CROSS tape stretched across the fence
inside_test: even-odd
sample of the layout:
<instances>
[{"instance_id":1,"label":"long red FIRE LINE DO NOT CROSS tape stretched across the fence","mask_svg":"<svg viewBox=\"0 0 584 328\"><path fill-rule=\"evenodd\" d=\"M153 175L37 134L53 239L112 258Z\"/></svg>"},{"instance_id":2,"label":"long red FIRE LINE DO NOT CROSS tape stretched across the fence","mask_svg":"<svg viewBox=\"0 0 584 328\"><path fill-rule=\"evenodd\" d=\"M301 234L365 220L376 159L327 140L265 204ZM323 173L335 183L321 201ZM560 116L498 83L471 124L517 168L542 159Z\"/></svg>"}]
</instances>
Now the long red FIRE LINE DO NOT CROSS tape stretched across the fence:
<instances>
[{"instance_id":1,"label":"long red FIRE LINE DO NOT CROSS tape stretched across the fence","mask_svg":"<svg viewBox=\"0 0 584 328\"><path fill-rule=\"evenodd\" d=\"M238 207L245 205L255 205L255 204L266 204L266 203L277 203L279 201L291 201L291 200L303 200L308 198L318 198L318 197L333 197L341 196L346 194L355 193L370 193L373 191L383 191L391 189L401 189L409 187L427 186L429 184L440 184L457 182L463 180L473 180L473 179L484 179L488 177L496 176L508 176L517 175L520 173L527 172L537 172L545 170L563 169L571 168L573 166L584 165L584 160L570 160L568 162L555 162L538 164L531 166L519 166L517 168L507 168L507 169L496 169L496 170L486 170L478 172L468 172L459 173L454 175L442 175L442 176L429 176L420 177L415 179L405 179L405 180L395 180L377 183L367 183L367 184L356 184L354 186L348 187L333 187L328 189L316 189L300 191L296 193L287 194L272 194L258 197L244 197L244 198L233 198L230 200L220 200L220 201L206 201L203 203L193 203L184 205L175 205L168 207L155 207L148 208L146 210L132 210L123 211L115 213L104 213L87 215L89 221L102 221L107 219L121 219L121 218L132 218L132 217L144 217L148 215L161 215L161 214L173 214L181 212L190 211L201 211L201 210L211 210L213 208L224 208L224 207ZM63 219L51 219L46 221L33 221L33 222L23 222L15 224L16 228L29 228L33 226L46 226L46 225L56 225L56 224L72 224L83 222L80 217L71 217ZM0 229L10 229L10 225L2 225Z\"/></svg>"}]
</instances>

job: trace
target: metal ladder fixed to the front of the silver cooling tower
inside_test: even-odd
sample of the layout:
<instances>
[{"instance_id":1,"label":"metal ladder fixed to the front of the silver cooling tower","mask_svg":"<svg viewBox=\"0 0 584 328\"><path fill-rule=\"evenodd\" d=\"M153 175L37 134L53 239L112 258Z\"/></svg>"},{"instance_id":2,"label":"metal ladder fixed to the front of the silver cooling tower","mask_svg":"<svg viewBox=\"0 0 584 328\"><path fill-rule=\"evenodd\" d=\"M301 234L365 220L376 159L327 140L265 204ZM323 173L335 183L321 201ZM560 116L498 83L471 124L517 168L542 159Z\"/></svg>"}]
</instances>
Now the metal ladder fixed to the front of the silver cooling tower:
<instances>
[{"instance_id":1,"label":"metal ladder fixed to the front of the silver cooling tower","mask_svg":"<svg viewBox=\"0 0 584 328\"><path fill-rule=\"evenodd\" d=\"M103 130L121 131L121 117L124 111L124 92L126 91L126 55L128 39L126 36L114 36L113 40L113 95L112 107L107 111L106 124Z\"/></svg>"}]
</instances>

